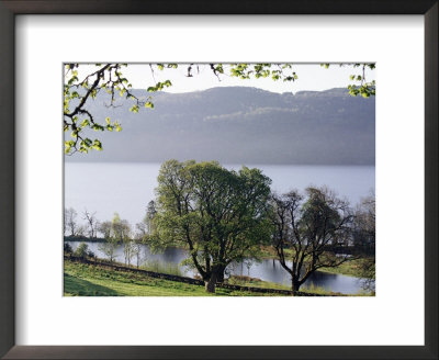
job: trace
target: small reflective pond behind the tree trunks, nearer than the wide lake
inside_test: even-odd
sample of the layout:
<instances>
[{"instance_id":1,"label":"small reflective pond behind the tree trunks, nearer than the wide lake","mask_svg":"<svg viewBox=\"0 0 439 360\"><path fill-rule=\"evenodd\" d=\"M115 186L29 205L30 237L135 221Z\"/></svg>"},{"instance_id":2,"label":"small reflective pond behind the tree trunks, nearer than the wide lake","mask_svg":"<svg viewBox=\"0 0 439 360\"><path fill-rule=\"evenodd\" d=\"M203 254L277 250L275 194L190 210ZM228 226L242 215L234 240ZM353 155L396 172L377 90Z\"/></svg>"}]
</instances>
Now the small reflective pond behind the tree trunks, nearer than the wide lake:
<instances>
[{"instance_id":1,"label":"small reflective pond behind the tree trunks, nearer than the wide lake","mask_svg":"<svg viewBox=\"0 0 439 360\"><path fill-rule=\"evenodd\" d=\"M71 247L76 249L79 241L69 241ZM88 243L89 249L94 252L98 258L105 258L103 252L99 249L100 244ZM123 247L120 246L116 251L116 261L124 262ZM149 248L144 245L142 247L140 262L148 262L158 260L161 263L178 265L181 272L187 277L193 277L194 272L185 267L180 266L180 262L187 258L187 252L183 249L168 248L162 254L151 254ZM135 265L136 260L133 258L132 263ZM229 274L247 275L251 278L258 278L264 281L277 282L280 284L291 284L291 278L289 273L281 267L278 260L262 260L260 262L247 262L236 263L229 266L226 270ZM340 292L344 294L356 294L361 291L361 279L331 274L325 272L315 272L307 281L306 285L314 285L325 288L334 292ZM301 289L304 290L303 285Z\"/></svg>"}]
</instances>

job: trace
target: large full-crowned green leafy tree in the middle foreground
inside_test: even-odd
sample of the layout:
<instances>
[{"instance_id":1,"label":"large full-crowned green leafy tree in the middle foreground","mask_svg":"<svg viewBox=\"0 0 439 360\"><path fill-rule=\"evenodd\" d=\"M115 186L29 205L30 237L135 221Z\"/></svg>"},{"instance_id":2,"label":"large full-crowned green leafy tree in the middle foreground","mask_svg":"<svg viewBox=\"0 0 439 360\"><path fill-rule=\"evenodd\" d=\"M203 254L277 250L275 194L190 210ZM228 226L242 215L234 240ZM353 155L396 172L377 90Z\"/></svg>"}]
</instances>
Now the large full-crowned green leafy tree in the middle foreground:
<instances>
[{"instance_id":1,"label":"large full-crowned green leafy tree in the middle foreground","mask_svg":"<svg viewBox=\"0 0 439 360\"><path fill-rule=\"evenodd\" d=\"M270 183L258 169L166 161L158 176L154 238L161 247L185 247L185 263L213 293L232 261L256 256L269 238Z\"/></svg>"}]
</instances>

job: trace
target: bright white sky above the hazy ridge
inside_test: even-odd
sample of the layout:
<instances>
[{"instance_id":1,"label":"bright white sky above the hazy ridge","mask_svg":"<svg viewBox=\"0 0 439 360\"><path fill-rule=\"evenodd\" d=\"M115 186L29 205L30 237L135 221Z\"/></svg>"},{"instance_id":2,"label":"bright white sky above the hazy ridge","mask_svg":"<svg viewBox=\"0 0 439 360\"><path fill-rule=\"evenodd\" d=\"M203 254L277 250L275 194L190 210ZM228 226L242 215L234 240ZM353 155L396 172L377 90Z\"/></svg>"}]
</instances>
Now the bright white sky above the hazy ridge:
<instances>
[{"instance_id":1,"label":"bright white sky above the hazy ridge","mask_svg":"<svg viewBox=\"0 0 439 360\"><path fill-rule=\"evenodd\" d=\"M94 70L95 66L81 65L79 68L79 76ZM167 92L190 92L198 90L205 90L214 87L230 87L230 86L246 86L260 88L271 92L297 92L303 90L327 90L333 88L347 87L352 81L349 79L350 75L360 75L360 68L352 66L340 67L338 64L331 65L328 69L320 67L319 64L297 64L294 65L294 71L297 74L299 79L294 82L273 81L270 78L266 79L249 79L241 80L238 78L230 78L223 76L219 81L207 67L200 67L200 72L196 74L194 67L194 77L188 78L187 66L180 64L178 69L165 69L162 71L155 71L153 78L151 70L147 64L131 64L127 68L123 69L123 75L132 82L135 89L146 89L157 81L171 80L172 87L167 88ZM365 72L367 80L375 79L376 70L368 70Z\"/></svg>"}]
</instances>

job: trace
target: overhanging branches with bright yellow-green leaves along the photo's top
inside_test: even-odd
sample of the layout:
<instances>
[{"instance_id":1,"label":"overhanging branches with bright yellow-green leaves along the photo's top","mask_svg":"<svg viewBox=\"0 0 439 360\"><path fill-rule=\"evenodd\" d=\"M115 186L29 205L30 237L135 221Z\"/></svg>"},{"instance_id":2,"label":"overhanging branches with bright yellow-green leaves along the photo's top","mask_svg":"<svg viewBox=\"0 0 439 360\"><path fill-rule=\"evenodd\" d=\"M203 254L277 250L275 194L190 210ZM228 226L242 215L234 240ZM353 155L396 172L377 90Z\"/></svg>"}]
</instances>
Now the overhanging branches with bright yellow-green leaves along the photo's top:
<instances>
[{"instance_id":1,"label":"overhanging branches with bright yellow-green leaves along the photo's top","mask_svg":"<svg viewBox=\"0 0 439 360\"><path fill-rule=\"evenodd\" d=\"M94 100L100 92L109 94L108 106L114 106L117 94L126 100L133 101L130 111L137 113L140 108L154 109L151 97L139 98L132 91L132 83L123 76L122 69L127 64L95 64L97 70L81 79L79 78L79 64L66 64L64 74L64 132L70 132L70 138L65 139L65 154L71 155L76 151L88 153L92 149L102 150L102 143L98 138L90 138L88 131L94 132L120 132L121 124L110 117L95 119L89 110L90 100ZM192 78L200 72L200 68L207 68L218 80L229 76L243 80L271 78L273 81L295 81L297 75L293 64L187 64L187 76ZM329 64L323 64L325 68ZM375 64L340 64L362 69L362 74L351 75L353 85L349 86L351 95L369 98L375 94L375 82L365 79L365 69L373 70ZM149 64L153 78L157 71L179 68L178 64ZM172 86L170 80L153 83L146 90L149 93L165 90Z\"/></svg>"}]
</instances>

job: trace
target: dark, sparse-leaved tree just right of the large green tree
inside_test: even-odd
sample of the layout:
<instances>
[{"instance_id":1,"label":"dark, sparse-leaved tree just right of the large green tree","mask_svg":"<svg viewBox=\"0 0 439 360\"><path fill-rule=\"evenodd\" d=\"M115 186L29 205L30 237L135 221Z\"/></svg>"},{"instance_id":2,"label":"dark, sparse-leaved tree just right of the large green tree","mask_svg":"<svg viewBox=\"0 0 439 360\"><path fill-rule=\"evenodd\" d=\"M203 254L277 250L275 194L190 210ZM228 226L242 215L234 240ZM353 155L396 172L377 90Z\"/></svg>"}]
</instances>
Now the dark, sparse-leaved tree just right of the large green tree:
<instances>
[{"instance_id":1,"label":"dark, sparse-leaved tree just right of the large green tree","mask_svg":"<svg viewBox=\"0 0 439 360\"><path fill-rule=\"evenodd\" d=\"M349 204L326 188L307 188L306 195L306 201L297 191L271 196L273 247L291 275L293 294L316 270L353 259L335 251L349 246L353 220Z\"/></svg>"}]
</instances>

